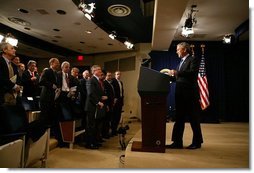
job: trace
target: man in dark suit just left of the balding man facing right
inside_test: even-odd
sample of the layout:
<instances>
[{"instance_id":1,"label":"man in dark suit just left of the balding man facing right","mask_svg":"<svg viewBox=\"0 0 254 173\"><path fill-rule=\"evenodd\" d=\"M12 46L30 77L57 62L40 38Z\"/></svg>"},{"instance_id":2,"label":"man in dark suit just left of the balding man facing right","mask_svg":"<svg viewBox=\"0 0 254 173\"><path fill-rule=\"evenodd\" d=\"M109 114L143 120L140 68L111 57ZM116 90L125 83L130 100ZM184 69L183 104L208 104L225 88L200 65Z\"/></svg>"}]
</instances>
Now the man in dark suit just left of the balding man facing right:
<instances>
[{"instance_id":1,"label":"man in dark suit just left of the balding man facing right","mask_svg":"<svg viewBox=\"0 0 254 173\"><path fill-rule=\"evenodd\" d=\"M40 76L34 71L36 67L36 61L30 60L27 63L27 70L22 74L22 85L23 85L23 97L35 97L39 96L39 79Z\"/></svg>"}]
</instances>

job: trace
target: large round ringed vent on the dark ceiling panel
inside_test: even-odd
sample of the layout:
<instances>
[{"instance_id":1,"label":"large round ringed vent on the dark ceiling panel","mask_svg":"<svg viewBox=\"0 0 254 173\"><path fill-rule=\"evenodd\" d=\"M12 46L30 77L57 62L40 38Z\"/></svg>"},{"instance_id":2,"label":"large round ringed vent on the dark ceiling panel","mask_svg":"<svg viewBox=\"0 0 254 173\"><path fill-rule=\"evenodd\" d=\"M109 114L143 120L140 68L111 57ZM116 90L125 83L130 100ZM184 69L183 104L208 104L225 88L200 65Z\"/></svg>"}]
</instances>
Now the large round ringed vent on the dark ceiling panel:
<instances>
[{"instance_id":1,"label":"large round ringed vent on the dark ceiling panel","mask_svg":"<svg viewBox=\"0 0 254 173\"><path fill-rule=\"evenodd\" d=\"M122 4L115 4L108 7L108 12L112 16L124 17L131 13L130 7Z\"/></svg>"}]
</instances>

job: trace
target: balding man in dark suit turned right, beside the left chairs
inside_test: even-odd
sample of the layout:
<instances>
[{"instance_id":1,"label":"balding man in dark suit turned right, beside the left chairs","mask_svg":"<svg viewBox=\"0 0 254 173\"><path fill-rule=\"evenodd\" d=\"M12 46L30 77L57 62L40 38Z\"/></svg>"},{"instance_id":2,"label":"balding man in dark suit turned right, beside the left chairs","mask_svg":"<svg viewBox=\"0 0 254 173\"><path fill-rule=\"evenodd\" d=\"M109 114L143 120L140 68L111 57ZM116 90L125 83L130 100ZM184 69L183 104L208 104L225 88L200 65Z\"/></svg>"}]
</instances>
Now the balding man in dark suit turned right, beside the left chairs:
<instances>
[{"instance_id":1,"label":"balding man in dark suit turned right, beside the left chairs","mask_svg":"<svg viewBox=\"0 0 254 173\"><path fill-rule=\"evenodd\" d=\"M42 86L40 95L41 114L39 119L47 125L52 125L55 124L55 121L57 120L54 112L59 60L57 58L51 58L49 60L49 65L50 68L44 69L39 81L39 85Z\"/></svg>"}]
</instances>

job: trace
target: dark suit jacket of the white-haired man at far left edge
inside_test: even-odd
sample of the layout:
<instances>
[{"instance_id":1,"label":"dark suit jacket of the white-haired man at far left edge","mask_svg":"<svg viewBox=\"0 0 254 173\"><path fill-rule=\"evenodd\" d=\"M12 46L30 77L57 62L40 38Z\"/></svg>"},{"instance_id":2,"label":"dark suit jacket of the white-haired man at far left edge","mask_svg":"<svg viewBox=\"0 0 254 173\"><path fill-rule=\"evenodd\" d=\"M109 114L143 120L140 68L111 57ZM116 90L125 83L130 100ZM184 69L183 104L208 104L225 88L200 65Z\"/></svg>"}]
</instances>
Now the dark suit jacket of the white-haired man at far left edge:
<instances>
[{"instance_id":1,"label":"dark suit jacket of the white-haired man at far left edge","mask_svg":"<svg viewBox=\"0 0 254 173\"><path fill-rule=\"evenodd\" d=\"M11 63L14 75L17 75L16 84L20 84L20 78L18 75L17 66ZM9 69L6 61L3 57L0 57L0 105L4 103L4 94L7 92L12 92L12 88L15 86L9 78Z\"/></svg>"}]
</instances>

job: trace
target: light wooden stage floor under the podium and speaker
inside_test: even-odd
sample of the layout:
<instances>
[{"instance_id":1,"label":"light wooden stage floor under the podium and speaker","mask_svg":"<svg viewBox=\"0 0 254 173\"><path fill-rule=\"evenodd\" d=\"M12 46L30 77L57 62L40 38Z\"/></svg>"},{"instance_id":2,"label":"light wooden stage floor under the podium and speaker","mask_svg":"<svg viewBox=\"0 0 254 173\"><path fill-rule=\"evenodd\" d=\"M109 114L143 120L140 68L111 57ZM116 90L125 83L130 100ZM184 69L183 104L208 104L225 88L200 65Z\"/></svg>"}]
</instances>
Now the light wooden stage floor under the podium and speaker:
<instances>
[{"instance_id":1,"label":"light wooden stage floor under the podium and speaker","mask_svg":"<svg viewBox=\"0 0 254 173\"><path fill-rule=\"evenodd\" d=\"M152 128L152 127L151 127ZM171 144L173 122L166 126L166 144ZM249 123L201 124L202 148L166 149L165 153L131 151L133 141L141 141L141 130L125 151L125 168L250 168ZM185 125L184 147L191 144L192 131Z\"/></svg>"}]
</instances>

